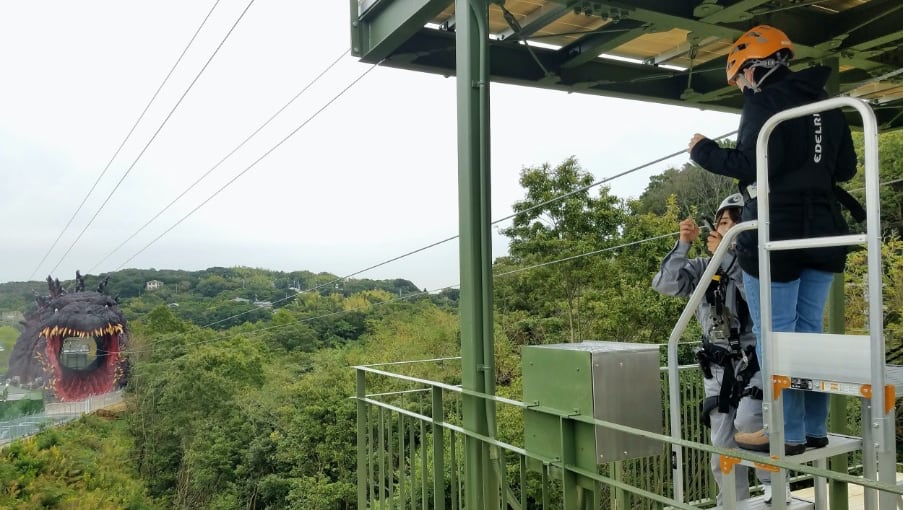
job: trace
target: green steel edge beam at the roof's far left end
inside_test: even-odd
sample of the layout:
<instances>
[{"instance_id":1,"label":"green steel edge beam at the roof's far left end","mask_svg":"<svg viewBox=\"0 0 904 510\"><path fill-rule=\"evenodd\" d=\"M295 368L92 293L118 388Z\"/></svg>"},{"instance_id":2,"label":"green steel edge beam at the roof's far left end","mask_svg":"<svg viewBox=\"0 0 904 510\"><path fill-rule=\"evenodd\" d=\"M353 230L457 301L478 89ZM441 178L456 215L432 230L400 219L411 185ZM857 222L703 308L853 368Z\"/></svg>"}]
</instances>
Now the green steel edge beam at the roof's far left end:
<instances>
[{"instance_id":1,"label":"green steel edge beam at the roof's far left end","mask_svg":"<svg viewBox=\"0 0 904 510\"><path fill-rule=\"evenodd\" d=\"M352 55L380 62L448 7L449 0L382 0L358 12L351 2Z\"/></svg>"}]
</instances>

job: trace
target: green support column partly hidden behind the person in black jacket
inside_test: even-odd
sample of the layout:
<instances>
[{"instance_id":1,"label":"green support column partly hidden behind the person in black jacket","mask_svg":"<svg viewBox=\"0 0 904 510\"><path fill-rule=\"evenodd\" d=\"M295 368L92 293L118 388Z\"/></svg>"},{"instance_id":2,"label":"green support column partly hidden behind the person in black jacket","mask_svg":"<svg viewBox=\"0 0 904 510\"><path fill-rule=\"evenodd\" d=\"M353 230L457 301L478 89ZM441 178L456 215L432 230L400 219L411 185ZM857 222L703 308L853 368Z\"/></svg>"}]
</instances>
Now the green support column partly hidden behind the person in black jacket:
<instances>
[{"instance_id":1,"label":"green support column partly hidden behind the person in black jacket","mask_svg":"<svg viewBox=\"0 0 904 510\"><path fill-rule=\"evenodd\" d=\"M826 83L829 96L839 92L838 59L826 59L823 64L832 69L832 75ZM836 274L829 290L828 302L829 333L844 333L844 275ZM829 432L847 434L847 398L842 395L829 396ZM847 454L837 455L829 459L829 469L847 474ZM829 503L832 510L848 510L847 484L837 480L829 481Z\"/></svg>"}]
</instances>

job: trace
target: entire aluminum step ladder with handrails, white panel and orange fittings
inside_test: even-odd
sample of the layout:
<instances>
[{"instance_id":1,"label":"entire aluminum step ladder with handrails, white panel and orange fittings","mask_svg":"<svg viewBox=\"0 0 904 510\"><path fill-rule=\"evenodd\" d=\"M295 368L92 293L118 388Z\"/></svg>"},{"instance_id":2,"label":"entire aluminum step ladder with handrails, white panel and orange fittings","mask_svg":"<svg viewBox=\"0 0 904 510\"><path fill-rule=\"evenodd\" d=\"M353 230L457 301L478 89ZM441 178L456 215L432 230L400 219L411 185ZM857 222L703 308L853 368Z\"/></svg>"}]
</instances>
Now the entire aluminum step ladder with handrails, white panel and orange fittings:
<instances>
[{"instance_id":1,"label":"entire aluminum step ladder with handrails, white panel and orange fittings","mask_svg":"<svg viewBox=\"0 0 904 510\"><path fill-rule=\"evenodd\" d=\"M878 482L887 488L895 487L895 437L894 402L902 394L901 367L886 366L885 339L882 331L882 263L881 230L879 222L879 163L878 129L875 115L863 101L853 98L833 98L818 103L800 106L780 112L764 124L757 139L757 182L768 182L767 147L769 136L781 122L812 115L835 108L851 107L863 117L864 126L864 166L866 182L866 234L841 235L798 240L771 241L769 238L769 197L761 192L758 196L757 220L736 225L728 231L713 254L712 260L700 281L708 281L715 274L719 262L728 251L731 241L742 231L758 228L760 250L759 273L766 275L760 279L760 317L763 352L766 362L761 363L763 387L763 421L769 433L768 457L798 464L813 462L814 467L826 469L829 457L862 450L863 480ZM762 187L761 187L762 188ZM769 253L778 250L816 248L828 246L865 245L867 249L868 290L869 290L869 334L839 335L814 333L782 333L772 331L771 281ZM677 375L677 342L681 333L693 317L697 303L705 293L705 286L698 285L679 318L668 344L669 398L671 412L671 435L680 439L680 416L671 410L680 409ZM773 360L773 361L770 361ZM771 381L767 384L766 381ZM879 391L873 391L879 388ZM829 444L824 448L808 449L806 452L785 457L784 427L781 393L786 389L822 391L859 397L861 399L862 438L829 435ZM752 452L747 452L752 453ZM672 469L676 480L674 498L683 502L683 454L681 447L673 445ZM774 469L772 491L775 500L771 506L765 505L763 497L735 502L734 476L732 466L742 464L764 467L762 464L723 456L727 465L723 466L725 482L723 499L725 508L785 508L825 509L828 504L826 479L815 477L815 502L792 499L786 504L786 470ZM682 482L679 482L682 480ZM876 485L876 484L870 484ZM893 509L900 504L900 486L897 493L878 491L865 487L864 508L882 510Z\"/></svg>"}]
</instances>

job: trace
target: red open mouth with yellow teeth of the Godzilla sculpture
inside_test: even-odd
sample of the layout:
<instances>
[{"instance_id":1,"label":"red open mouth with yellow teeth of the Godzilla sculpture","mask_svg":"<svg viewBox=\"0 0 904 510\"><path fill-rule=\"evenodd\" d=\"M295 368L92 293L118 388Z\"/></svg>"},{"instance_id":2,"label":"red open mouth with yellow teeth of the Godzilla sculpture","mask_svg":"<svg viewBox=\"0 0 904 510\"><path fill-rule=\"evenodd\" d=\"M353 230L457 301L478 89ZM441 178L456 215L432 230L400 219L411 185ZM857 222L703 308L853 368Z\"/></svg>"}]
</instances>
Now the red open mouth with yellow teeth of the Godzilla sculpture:
<instances>
[{"instance_id":1,"label":"red open mouth with yellow teeth of the Godzilla sculpture","mask_svg":"<svg viewBox=\"0 0 904 510\"><path fill-rule=\"evenodd\" d=\"M51 374L48 385L60 400L82 400L91 395L107 393L114 388L122 376L119 373L122 335L123 326L112 323L91 331L59 326L41 330L41 336L47 340L45 359L42 361ZM93 361L73 363L73 353L68 350L64 352L64 346L85 345L85 340L90 339L94 340L96 346ZM87 360L87 356L83 359Z\"/></svg>"}]
</instances>

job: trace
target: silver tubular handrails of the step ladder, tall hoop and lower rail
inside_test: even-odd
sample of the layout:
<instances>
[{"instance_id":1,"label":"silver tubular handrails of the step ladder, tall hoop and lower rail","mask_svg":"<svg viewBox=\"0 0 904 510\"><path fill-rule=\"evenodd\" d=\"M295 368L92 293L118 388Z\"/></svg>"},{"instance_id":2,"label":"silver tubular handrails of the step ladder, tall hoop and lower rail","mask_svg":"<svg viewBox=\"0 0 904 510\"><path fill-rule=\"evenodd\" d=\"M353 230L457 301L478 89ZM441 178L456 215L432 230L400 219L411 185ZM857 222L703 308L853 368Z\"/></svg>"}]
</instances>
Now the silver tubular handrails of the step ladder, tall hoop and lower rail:
<instances>
[{"instance_id":1,"label":"silver tubular handrails of the step ladder, tall hoop and lower rail","mask_svg":"<svg viewBox=\"0 0 904 510\"><path fill-rule=\"evenodd\" d=\"M866 181L866 209L873 211L873 214L867 215L867 233L839 235L819 238L794 239L794 240L769 240L769 193L768 193L768 139L774 131L775 127L786 120L803 117L818 113L825 110L835 108L851 107L856 109L863 117L864 126L864 166ZM756 147L757 162L757 182L765 184L766 192L759 193L758 196L758 218L755 220L739 223L725 233L719 247L713 253L710 263L700 278L700 281L707 281L713 277L720 262L728 252L733 240L743 231L757 229L758 233L758 249L760 250L759 264L760 274L767 275L766 278L760 278L760 306L761 306L761 341L763 342L763 352L767 359L775 359L775 348L773 342L772 331L772 296L771 296L771 274L769 266L770 251L791 250L799 248L819 248L828 246L841 245L866 245L867 247L867 264L868 264L868 286L869 286L869 344L870 344L870 384L872 388L884 388L886 384L885 372L885 339L882 334L882 285L881 285L881 231L879 228L879 152L878 152L878 129L876 126L875 115L869 106L858 99L853 98L832 98L809 105L800 106L780 112L766 121L760 135L757 139ZM762 228L758 228L762 226ZM765 255L764 255L765 254ZM679 393L679 377L678 377L678 341L684 333L687 325L694 317L697 305L706 294L706 286L697 285L694 292L688 299L672 333L669 336L667 359L668 359L668 382L669 382L669 425L670 435L673 438L681 439L681 400ZM779 458L784 457L784 427L781 406L772 406L774 398L774 387L770 383L773 373L768 363L761 363L760 367L763 378L763 426L766 430L770 430L770 455ZM869 444L864 444L864 454L870 451L890 452L892 458L892 478L885 479L886 476L880 473L879 481L894 483L894 424L892 419L884 414L884 391L873 391L870 397L869 421L870 428L874 433L870 433ZM864 442L866 437L864 438ZM879 455L880 472L887 471L883 468L882 458L889 455ZM873 457L875 458L875 457ZM684 501L684 456L682 448L677 444L672 445L672 474L673 474L673 497L678 501ZM884 462L887 464L887 460ZM784 492L786 481L784 476L775 473L773 475L773 489L780 494ZM871 493L871 494L870 494ZM875 498L875 491L868 491L867 499ZM889 495L893 497L893 495ZM774 502L776 508L783 508L784 501L779 498ZM733 507L733 501L728 502L729 507Z\"/></svg>"}]
</instances>

